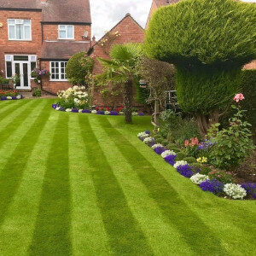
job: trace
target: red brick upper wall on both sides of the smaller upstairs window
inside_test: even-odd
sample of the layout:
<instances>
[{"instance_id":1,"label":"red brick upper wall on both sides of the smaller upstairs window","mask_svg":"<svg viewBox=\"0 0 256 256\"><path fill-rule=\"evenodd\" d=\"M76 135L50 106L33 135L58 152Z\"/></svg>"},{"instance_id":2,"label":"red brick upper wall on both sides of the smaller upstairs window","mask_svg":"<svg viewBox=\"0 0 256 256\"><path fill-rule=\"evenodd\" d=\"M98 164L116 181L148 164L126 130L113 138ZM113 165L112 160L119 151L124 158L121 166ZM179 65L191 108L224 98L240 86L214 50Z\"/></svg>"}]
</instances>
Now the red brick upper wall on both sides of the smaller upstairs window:
<instances>
[{"instance_id":1,"label":"red brick upper wall on both sides of the smaller upstairs window","mask_svg":"<svg viewBox=\"0 0 256 256\"><path fill-rule=\"evenodd\" d=\"M74 25L74 40L82 41L82 36L85 31L88 31L88 38L90 38L90 26ZM57 41L59 39L58 25L44 24L44 40Z\"/></svg>"}]
</instances>

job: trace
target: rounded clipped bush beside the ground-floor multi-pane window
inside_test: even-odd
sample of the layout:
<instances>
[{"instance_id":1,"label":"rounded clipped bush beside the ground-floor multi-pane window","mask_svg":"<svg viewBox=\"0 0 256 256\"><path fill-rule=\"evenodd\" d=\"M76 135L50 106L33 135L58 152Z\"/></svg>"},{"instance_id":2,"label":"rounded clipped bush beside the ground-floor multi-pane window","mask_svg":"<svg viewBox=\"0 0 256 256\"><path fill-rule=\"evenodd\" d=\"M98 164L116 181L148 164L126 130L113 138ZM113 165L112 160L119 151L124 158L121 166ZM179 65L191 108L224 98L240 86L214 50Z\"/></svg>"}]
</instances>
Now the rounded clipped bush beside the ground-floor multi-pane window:
<instances>
[{"instance_id":1,"label":"rounded clipped bush beside the ground-floor multi-pane window","mask_svg":"<svg viewBox=\"0 0 256 256\"><path fill-rule=\"evenodd\" d=\"M93 64L94 61L84 51L73 55L66 67L68 81L73 85L88 84Z\"/></svg>"}]
</instances>

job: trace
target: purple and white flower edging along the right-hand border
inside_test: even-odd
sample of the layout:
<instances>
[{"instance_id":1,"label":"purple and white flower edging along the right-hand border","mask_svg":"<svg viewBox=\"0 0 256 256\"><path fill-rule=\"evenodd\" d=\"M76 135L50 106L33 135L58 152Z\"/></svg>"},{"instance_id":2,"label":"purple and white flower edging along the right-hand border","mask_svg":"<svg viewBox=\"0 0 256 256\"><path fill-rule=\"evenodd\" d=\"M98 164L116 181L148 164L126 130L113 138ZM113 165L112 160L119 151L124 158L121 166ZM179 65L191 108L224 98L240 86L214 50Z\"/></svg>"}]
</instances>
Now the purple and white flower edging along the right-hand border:
<instances>
[{"instance_id":1,"label":"purple and white flower edging along the right-hand border","mask_svg":"<svg viewBox=\"0 0 256 256\"><path fill-rule=\"evenodd\" d=\"M177 154L174 150L168 150L160 143L154 143L154 137L150 137L149 131L140 132L137 137L143 141L143 143L147 144L148 147L152 148L156 154L160 154L161 157L173 166L177 172L183 175L183 177L188 177L191 182L197 184L203 191L208 191L214 195L230 199L242 200L246 197L256 198L256 183L224 183L224 181L229 182L229 179L219 175L219 173L212 175L212 172L210 172L209 176L207 176L201 173L201 168L195 168L195 166L189 165L185 160L176 160ZM198 159L198 162L204 162L206 160L207 159L201 158ZM218 180L218 177L222 180Z\"/></svg>"}]
</instances>

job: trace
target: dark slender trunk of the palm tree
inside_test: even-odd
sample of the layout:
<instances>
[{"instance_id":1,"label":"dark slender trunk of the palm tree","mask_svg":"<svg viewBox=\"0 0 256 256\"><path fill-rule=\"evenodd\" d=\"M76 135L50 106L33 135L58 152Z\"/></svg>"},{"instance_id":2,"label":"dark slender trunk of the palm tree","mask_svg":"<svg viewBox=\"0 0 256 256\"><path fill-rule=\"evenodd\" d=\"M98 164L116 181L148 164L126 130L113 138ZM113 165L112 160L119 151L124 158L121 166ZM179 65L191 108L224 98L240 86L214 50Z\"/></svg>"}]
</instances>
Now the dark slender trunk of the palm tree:
<instances>
[{"instance_id":1,"label":"dark slender trunk of the palm tree","mask_svg":"<svg viewBox=\"0 0 256 256\"><path fill-rule=\"evenodd\" d=\"M125 123L131 124L131 112L133 101L133 80L128 79L124 85L124 102L125 102Z\"/></svg>"}]
</instances>

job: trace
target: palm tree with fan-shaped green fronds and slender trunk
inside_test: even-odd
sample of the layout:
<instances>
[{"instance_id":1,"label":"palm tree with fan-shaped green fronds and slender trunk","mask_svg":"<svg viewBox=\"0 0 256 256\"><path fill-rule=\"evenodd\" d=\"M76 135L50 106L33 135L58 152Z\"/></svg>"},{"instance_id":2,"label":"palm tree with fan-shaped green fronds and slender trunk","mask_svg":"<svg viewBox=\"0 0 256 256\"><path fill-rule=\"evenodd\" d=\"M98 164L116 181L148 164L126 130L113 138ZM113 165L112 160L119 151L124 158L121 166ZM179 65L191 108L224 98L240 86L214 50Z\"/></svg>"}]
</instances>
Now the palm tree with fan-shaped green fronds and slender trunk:
<instances>
[{"instance_id":1,"label":"palm tree with fan-shaped green fronds and slender trunk","mask_svg":"<svg viewBox=\"0 0 256 256\"><path fill-rule=\"evenodd\" d=\"M115 44L110 50L110 60L98 58L104 67L98 75L101 84L113 83L123 86L125 123L131 124L133 88L138 77L138 61L142 49L138 44Z\"/></svg>"}]
</instances>

